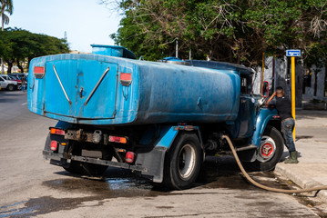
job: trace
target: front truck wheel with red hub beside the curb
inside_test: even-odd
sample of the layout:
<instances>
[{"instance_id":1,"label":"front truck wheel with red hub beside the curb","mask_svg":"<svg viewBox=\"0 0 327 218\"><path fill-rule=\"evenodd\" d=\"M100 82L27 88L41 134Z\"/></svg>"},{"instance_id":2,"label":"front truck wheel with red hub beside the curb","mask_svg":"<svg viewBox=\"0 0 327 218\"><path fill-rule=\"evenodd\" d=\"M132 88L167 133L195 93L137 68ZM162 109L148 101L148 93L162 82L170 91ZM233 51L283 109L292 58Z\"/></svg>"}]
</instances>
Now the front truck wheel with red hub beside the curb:
<instances>
[{"instance_id":1,"label":"front truck wheel with red hub beside the curb","mask_svg":"<svg viewBox=\"0 0 327 218\"><path fill-rule=\"evenodd\" d=\"M257 160L244 165L250 171L271 171L281 161L283 152L284 141L281 133L275 127L268 125L261 136Z\"/></svg>"}]
</instances>

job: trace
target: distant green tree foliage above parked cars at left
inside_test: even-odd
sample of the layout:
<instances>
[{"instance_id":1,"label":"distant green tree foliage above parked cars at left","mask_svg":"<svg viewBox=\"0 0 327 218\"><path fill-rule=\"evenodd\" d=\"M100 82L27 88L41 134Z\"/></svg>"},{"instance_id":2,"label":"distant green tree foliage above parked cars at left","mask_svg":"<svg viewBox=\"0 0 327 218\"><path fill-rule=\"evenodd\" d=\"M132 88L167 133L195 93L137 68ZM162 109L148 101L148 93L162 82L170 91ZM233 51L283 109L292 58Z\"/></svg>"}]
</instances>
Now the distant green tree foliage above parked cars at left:
<instances>
[{"instance_id":1,"label":"distant green tree foliage above parked cars at left","mask_svg":"<svg viewBox=\"0 0 327 218\"><path fill-rule=\"evenodd\" d=\"M7 28L0 32L0 56L10 66L20 62L48 54L68 53L69 48L65 39L49 35L33 34L22 29Z\"/></svg>"}]
</instances>

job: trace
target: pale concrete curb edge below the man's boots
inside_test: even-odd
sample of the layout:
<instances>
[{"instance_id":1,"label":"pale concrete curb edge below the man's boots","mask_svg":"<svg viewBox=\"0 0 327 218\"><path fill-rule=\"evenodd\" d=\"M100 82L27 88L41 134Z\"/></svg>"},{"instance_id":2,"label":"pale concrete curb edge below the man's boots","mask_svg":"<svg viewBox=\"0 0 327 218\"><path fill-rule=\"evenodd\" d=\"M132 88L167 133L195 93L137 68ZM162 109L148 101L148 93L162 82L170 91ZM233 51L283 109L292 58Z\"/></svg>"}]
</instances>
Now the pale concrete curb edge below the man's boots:
<instances>
[{"instance_id":1,"label":"pale concrete curb edge below the man's boots","mask_svg":"<svg viewBox=\"0 0 327 218\"><path fill-rule=\"evenodd\" d=\"M318 183L312 178L309 178L307 176L301 175L299 173L295 173L294 171L291 171L291 169L288 169L285 167L284 163L278 163L276 165L274 173L278 173L283 177L288 178L291 180L293 183L296 183L299 185L301 188L313 188L313 187L318 187L322 186L322 183ZM318 192L317 197L323 202L327 203L327 190L321 190Z\"/></svg>"}]
</instances>

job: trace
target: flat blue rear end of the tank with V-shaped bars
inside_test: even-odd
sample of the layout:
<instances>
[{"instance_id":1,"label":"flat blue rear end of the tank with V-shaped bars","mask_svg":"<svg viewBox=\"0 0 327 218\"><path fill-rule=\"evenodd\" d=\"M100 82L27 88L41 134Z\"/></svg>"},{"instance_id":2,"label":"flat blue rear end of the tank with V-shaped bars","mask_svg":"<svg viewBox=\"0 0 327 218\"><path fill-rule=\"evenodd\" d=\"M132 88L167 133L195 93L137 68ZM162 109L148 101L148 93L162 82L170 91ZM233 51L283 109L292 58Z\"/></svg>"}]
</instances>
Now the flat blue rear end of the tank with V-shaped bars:
<instances>
[{"instance_id":1,"label":"flat blue rear end of the tank with V-shaped bars","mask_svg":"<svg viewBox=\"0 0 327 218\"><path fill-rule=\"evenodd\" d=\"M30 63L28 108L31 112L74 124L129 123L138 104L138 70L115 57L58 54ZM132 84L132 78L134 83ZM129 98L120 97L123 92ZM118 97L119 94L119 97ZM124 112L117 114L117 112Z\"/></svg>"}]
</instances>

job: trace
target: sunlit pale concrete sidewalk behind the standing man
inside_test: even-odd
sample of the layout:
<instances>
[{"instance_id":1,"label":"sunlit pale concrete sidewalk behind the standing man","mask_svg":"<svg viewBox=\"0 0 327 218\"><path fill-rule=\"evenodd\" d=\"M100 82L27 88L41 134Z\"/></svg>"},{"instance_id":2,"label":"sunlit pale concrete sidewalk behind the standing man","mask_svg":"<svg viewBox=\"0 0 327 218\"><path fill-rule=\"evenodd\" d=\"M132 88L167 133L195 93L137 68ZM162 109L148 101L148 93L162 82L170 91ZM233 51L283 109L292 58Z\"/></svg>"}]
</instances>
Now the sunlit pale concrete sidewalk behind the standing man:
<instances>
[{"instance_id":1,"label":"sunlit pale concrete sidewalk behind the standing man","mask_svg":"<svg viewBox=\"0 0 327 218\"><path fill-rule=\"evenodd\" d=\"M327 185L327 111L296 112L295 146L300 154L300 163L278 163L275 173L301 188ZM283 158L286 156L285 147ZM327 190L320 191L317 196L327 203Z\"/></svg>"}]
</instances>

